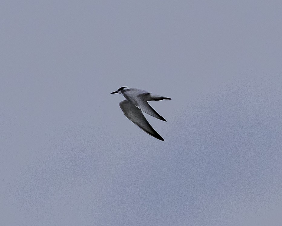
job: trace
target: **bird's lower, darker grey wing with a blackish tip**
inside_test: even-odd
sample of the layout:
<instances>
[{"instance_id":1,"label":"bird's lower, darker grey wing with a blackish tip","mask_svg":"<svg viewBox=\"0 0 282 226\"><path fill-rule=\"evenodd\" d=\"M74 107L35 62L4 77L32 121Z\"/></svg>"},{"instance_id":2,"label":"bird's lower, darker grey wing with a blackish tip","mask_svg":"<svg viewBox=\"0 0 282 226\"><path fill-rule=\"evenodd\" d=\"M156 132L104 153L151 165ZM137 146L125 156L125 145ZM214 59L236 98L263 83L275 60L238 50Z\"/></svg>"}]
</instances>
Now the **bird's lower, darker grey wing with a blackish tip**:
<instances>
[{"instance_id":1,"label":"bird's lower, darker grey wing with a blackish tip","mask_svg":"<svg viewBox=\"0 0 282 226\"><path fill-rule=\"evenodd\" d=\"M157 133L156 130L152 128L145 116L142 114L142 111L133 105L130 101L124 100L120 102L120 108L123 111L123 114L132 121L135 125L141 128L143 131L149 135L164 141L164 139Z\"/></svg>"}]
</instances>

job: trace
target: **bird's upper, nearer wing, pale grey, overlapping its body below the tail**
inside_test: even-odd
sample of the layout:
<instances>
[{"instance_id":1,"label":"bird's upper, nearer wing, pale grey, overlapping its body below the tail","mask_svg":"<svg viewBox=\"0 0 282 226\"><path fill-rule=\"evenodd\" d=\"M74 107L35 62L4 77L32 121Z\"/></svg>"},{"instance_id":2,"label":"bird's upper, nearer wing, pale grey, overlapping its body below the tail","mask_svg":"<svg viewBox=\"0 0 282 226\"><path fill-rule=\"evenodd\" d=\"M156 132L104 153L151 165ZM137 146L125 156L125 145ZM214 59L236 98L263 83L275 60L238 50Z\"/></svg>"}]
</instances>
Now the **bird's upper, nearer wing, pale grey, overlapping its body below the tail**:
<instances>
[{"instance_id":1,"label":"bird's upper, nearer wing, pale grey, overlapping its body below the tail","mask_svg":"<svg viewBox=\"0 0 282 226\"><path fill-rule=\"evenodd\" d=\"M157 119L160 119L162 121L166 121L165 118L163 118L158 112L156 112L147 101L154 100L151 98L150 93L142 93L138 95L130 95L130 93L123 93L124 97L129 100L133 105L135 105L137 108L141 109L148 115L151 115Z\"/></svg>"}]
</instances>

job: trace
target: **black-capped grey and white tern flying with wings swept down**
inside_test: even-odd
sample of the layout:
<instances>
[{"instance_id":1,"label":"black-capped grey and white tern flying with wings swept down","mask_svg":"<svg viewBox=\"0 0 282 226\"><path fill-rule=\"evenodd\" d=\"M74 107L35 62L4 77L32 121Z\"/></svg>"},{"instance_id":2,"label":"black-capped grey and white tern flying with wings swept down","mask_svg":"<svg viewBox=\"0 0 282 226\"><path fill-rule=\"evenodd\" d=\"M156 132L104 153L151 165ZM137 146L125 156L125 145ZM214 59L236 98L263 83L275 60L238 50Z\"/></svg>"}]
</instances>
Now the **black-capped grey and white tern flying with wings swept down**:
<instances>
[{"instance_id":1,"label":"black-capped grey and white tern flying with wings swept down","mask_svg":"<svg viewBox=\"0 0 282 226\"><path fill-rule=\"evenodd\" d=\"M111 94L114 93L119 93L124 96L125 100L121 101L119 105L123 114L130 121L154 138L164 141L161 135L149 124L142 111L159 120L166 121L165 118L159 115L159 113L148 104L148 101L171 100L171 98L159 96L142 89L129 88L127 86L120 87Z\"/></svg>"}]
</instances>

